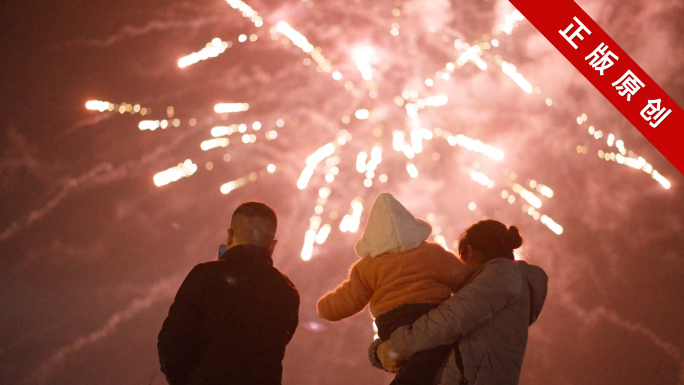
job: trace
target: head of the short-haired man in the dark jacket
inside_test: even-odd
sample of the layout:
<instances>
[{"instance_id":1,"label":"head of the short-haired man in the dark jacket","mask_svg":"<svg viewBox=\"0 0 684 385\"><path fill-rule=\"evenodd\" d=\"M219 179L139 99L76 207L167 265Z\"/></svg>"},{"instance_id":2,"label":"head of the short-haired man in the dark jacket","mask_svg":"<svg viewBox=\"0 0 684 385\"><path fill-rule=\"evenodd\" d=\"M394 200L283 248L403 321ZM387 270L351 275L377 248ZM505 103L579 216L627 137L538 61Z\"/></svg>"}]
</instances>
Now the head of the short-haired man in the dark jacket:
<instances>
[{"instance_id":1,"label":"head of the short-haired man in the dark jacket","mask_svg":"<svg viewBox=\"0 0 684 385\"><path fill-rule=\"evenodd\" d=\"M261 202L245 202L233 212L226 246L258 245L273 251L278 218L272 208Z\"/></svg>"}]
</instances>

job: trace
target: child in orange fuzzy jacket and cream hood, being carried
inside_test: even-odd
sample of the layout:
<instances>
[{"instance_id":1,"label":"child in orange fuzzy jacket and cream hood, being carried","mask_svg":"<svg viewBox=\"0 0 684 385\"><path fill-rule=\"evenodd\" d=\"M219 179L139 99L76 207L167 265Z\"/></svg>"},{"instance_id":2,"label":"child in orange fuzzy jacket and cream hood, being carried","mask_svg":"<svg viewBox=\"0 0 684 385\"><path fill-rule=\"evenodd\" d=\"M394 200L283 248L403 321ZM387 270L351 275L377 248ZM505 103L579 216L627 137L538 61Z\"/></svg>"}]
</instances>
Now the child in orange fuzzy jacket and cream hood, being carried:
<instances>
[{"instance_id":1,"label":"child in orange fuzzy jacket and cream hood, being carried","mask_svg":"<svg viewBox=\"0 0 684 385\"><path fill-rule=\"evenodd\" d=\"M318 300L321 318L339 321L363 310L370 302L381 340L413 323L451 297L471 273L456 256L426 242L432 227L416 219L391 194L380 194L356 243L361 258L349 279ZM451 346L415 354L393 384L430 383Z\"/></svg>"}]
</instances>

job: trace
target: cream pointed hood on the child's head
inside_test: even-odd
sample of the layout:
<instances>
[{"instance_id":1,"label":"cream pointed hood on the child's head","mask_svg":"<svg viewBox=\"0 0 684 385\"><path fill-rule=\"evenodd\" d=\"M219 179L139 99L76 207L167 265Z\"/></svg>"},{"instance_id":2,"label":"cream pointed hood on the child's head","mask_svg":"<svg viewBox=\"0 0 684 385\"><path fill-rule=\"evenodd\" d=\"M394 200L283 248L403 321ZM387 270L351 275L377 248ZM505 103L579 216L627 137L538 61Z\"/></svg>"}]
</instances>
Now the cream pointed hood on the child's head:
<instances>
[{"instance_id":1,"label":"cream pointed hood on the child's head","mask_svg":"<svg viewBox=\"0 0 684 385\"><path fill-rule=\"evenodd\" d=\"M363 236L356 242L359 257L375 257L415 249L432 233L432 226L416 219L389 193L378 195L368 214Z\"/></svg>"}]
</instances>

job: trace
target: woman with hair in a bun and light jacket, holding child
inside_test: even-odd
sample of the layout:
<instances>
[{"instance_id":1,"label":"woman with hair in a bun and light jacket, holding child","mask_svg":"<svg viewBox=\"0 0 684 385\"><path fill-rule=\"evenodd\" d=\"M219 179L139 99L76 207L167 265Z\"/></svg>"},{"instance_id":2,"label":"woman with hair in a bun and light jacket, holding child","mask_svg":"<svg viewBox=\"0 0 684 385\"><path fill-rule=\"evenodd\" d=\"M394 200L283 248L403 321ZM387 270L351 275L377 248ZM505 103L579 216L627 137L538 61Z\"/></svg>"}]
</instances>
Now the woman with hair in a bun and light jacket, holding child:
<instances>
[{"instance_id":1,"label":"woman with hair in a bun and light jacket, holding child","mask_svg":"<svg viewBox=\"0 0 684 385\"><path fill-rule=\"evenodd\" d=\"M458 251L475 271L466 285L438 308L369 348L375 366L391 372L419 351L454 345L434 379L451 385L518 384L527 345L527 328L546 298L547 276L513 250L522 245L515 226L480 221L461 235ZM377 349L377 351L376 351Z\"/></svg>"}]
</instances>

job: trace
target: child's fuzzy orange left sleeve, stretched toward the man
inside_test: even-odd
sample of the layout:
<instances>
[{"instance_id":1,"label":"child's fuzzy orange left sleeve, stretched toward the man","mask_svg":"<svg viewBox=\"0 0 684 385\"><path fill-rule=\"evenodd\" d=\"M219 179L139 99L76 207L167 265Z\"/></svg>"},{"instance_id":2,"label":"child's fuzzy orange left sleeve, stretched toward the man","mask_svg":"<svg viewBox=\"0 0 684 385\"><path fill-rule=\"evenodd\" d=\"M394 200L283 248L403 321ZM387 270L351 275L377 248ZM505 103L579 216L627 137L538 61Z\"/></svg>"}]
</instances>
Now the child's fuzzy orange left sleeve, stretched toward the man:
<instances>
[{"instance_id":1,"label":"child's fuzzy orange left sleeve, stretched toward the man","mask_svg":"<svg viewBox=\"0 0 684 385\"><path fill-rule=\"evenodd\" d=\"M363 262L364 259L361 259L355 263L349 279L318 300L316 311L321 318L339 321L360 312L370 302L373 290L362 275L360 266Z\"/></svg>"}]
</instances>

